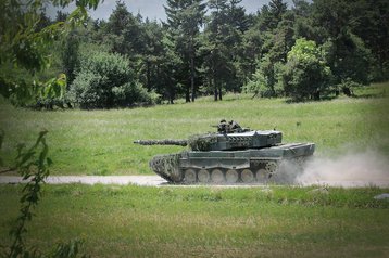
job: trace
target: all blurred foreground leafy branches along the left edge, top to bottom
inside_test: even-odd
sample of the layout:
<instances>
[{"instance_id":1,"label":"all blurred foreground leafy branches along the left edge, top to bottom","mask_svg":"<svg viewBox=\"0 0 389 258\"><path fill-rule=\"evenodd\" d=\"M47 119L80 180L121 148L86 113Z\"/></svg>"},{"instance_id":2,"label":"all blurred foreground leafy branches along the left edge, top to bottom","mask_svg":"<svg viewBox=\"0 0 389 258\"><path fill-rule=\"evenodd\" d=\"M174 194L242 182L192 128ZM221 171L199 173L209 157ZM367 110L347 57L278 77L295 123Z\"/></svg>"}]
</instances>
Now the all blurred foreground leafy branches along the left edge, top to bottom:
<instances>
[{"instance_id":1,"label":"all blurred foreground leafy branches along the left edge, top to bottom","mask_svg":"<svg viewBox=\"0 0 389 258\"><path fill-rule=\"evenodd\" d=\"M66 7L72 0L48 1L54 7ZM76 1L76 10L64 21L50 24L45 16L43 4L46 1L33 0L5 0L0 2L0 93L13 100L14 103L25 105L28 102L42 99L52 101L62 99L66 87L66 76L60 74L57 78L46 82L16 78L15 73L11 76L4 73L3 67L12 67L34 75L47 68L50 64L48 53L49 47L76 25L87 17L86 8L97 8L99 0ZM12 70L13 70L12 69ZM16 72L17 73L17 72ZM41 183L49 175L48 167L51 159L47 157L48 145L46 144L47 131L39 133L36 143L26 149L25 145L17 146L16 164L13 169L20 171L27 183L23 188L20 199L21 209L13 229L10 231L12 244L9 250L4 249L5 257L41 257L35 247L29 248L25 243L27 233L26 223L33 219L33 209L38 205L41 197ZM0 147L3 142L3 131L0 134ZM39 149L41 149L39 151ZM2 159L0 159L2 166ZM52 257L76 257L79 242L61 244L52 253Z\"/></svg>"}]
</instances>

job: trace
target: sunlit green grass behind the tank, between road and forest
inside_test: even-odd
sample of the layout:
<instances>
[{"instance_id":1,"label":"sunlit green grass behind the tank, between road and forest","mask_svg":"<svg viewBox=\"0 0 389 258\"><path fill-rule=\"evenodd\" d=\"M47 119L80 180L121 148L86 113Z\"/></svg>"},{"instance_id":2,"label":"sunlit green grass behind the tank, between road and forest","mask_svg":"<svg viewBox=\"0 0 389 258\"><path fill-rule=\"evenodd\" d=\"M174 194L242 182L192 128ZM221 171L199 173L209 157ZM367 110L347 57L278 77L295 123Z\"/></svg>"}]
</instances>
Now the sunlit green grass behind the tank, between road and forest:
<instances>
[{"instance_id":1,"label":"sunlit green grass behind the tank, between road and forest","mask_svg":"<svg viewBox=\"0 0 389 258\"><path fill-rule=\"evenodd\" d=\"M1 104L0 128L5 132L2 156L10 164L20 142L33 144L49 130L52 175L146 175L155 154L176 146L138 146L137 139L186 139L214 131L222 118L252 129L276 128L285 142L314 142L318 155L344 150L376 149L389 155L389 83L356 89L359 98L291 103L286 100L226 95L222 102L202 98L195 103L110 111L55 112L14 108ZM4 101L2 101L4 102Z\"/></svg>"}]
</instances>

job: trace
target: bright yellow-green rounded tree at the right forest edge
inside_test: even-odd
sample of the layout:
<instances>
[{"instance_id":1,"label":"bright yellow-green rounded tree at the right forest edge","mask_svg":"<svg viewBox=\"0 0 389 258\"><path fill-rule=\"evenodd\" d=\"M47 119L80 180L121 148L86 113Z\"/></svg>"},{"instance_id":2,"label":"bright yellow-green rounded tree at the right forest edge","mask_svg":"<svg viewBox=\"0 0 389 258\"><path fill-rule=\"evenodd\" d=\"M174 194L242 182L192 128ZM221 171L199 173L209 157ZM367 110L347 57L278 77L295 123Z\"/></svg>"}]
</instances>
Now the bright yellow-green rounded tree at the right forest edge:
<instances>
[{"instance_id":1,"label":"bright yellow-green rounded tree at the right forest edge","mask_svg":"<svg viewBox=\"0 0 389 258\"><path fill-rule=\"evenodd\" d=\"M319 99L331 81L321 48L304 38L298 39L289 51L281 76L285 92L297 100Z\"/></svg>"}]
</instances>

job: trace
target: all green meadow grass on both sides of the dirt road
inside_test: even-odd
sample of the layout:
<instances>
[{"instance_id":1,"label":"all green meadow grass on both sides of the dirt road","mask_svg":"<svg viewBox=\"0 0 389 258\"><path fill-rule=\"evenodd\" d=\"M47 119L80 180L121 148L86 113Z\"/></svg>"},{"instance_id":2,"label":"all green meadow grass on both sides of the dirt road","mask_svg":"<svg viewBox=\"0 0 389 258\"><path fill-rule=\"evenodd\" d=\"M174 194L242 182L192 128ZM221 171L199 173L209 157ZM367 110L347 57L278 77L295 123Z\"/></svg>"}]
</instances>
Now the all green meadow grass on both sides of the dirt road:
<instances>
[{"instance_id":1,"label":"all green meadow grass on both sides of the dirt road","mask_svg":"<svg viewBox=\"0 0 389 258\"><path fill-rule=\"evenodd\" d=\"M183 139L212 131L221 118L276 128L285 142L314 142L316 155L375 150L389 155L388 83L356 98L288 103L226 95L185 104L110 111L30 111L1 104L7 168L20 142L47 137L52 175L151 175L148 160L177 146L137 139ZM23 185L0 185L0 246L18 214ZM27 245L42 251L83 240L91 257L388 257L389 189L323 186L43 185L27 224Z\"/></svg>"}]
</instances>

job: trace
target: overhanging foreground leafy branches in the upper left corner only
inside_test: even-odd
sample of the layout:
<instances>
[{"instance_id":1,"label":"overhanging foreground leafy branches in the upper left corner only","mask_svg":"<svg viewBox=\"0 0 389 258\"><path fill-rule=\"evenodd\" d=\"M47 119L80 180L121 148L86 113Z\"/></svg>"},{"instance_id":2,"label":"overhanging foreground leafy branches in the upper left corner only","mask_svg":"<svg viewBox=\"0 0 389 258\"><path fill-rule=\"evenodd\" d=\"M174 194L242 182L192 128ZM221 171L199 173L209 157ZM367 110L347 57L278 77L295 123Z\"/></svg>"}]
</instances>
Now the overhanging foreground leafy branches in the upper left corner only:
<instances>
[{"instance_id":1,"label":"overhanging foreground leafy branches in the upper left corner only","mask_svg":"<svg viewBox=\"0 0 389 258\"><path fill-rule=\"evenodd\" d=\"M51 0L54 7L66 7L72 0ZM47 68L50 64L51 53L49 47L66 34L76 25L83 23L87 18L87 8L96 9L99 0L85 0L76 2L76 10L72 12L63 22L50 24L47 17L42 15L43 1L1 1L0 9L2 15L0 17L0 65L12 65L16 69L25 69L30 74ZM32 90L30 88L39 88L41 82L34 82L23 78L4 77L0 74L0 81L3 96L8 98L9 91L17 88L17 93L23 92L22 98L16 94L16 99L22 102L24 94L29 94L26 99L41 98L40 90ZM46 88L55 86L55 83L43 83ZM49 90L58 92L58 90Z\"/></svg>"}]
</instances>

